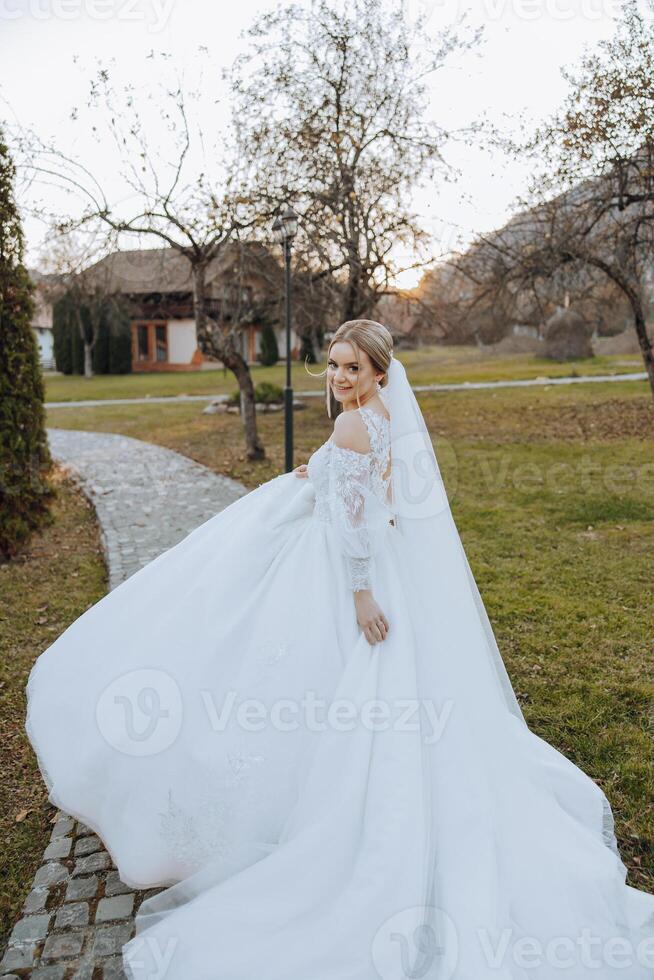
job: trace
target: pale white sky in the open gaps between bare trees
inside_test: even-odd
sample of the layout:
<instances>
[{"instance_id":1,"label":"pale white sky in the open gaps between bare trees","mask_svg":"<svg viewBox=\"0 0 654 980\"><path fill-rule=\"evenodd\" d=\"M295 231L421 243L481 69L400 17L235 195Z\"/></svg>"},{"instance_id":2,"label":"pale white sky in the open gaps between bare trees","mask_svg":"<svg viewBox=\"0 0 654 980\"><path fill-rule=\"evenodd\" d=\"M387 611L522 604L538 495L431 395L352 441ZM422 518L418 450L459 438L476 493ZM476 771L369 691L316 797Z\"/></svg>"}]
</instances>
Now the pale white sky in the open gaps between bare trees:
<instances>
[{"instance_id":1,"label":"pale white sky in the open gaps between bare trees","mask_svg":"<svg viewBox=\"0 0 654 980\"><path fill-rule=\"evenodd\" d=\"M105 148L81 141L79 124L70 121L97 61L113 59L117 77L137 87L152 78L151 51L168 53L169 66L189 76L197 72L199 46L210 50L214 64L228 66L245 44L241 30L274 6L268 0L0 0L0 118L81 153L111 187ZM566 91L561 66L573 65L585 47L611 35L619 2L410 0L407 7L412 16L427 13L430 33L464 10L485 28L482 45L452 63L430 88L430 117L454 129L481 117L511 126L521 114L537 121L555 110ZM222 111L217 105L217 126ZM452 144L447 158L461 171L460 180L423 188L413 202L445 247L501 225L528 177L515 161L474 147ZM47 203L49 192L40 193ZM54 206L54 194L52 201ZM32 264L43 247L43 226L33 219L25 224ZM403 284L413 285L412 278Z\"/></svg>"}]
</instances>

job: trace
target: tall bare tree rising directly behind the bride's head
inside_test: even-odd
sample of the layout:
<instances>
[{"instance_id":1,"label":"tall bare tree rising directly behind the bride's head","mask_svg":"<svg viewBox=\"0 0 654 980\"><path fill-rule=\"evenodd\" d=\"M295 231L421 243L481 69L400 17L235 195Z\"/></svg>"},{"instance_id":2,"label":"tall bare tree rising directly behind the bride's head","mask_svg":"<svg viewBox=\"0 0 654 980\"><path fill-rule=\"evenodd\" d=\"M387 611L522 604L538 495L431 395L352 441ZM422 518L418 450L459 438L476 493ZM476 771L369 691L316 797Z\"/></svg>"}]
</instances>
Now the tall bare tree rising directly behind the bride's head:
<instances>
[{"instance_id":1,"label":"tall bare tree rising directly behind the bride's head","mask_svg":"<svg viewBox=\"0 0 654 980\"><path fill-rule=\"evenodd\" d=\"M370 315L402 271L426 266L429 237L407 202L414 186L452 176L453 134L426 121L427 76L478 35L461 25L428 43L405 5L292 3L248 31L231 73L235 132L257 199L292 201L308 275L338 284L343 319Z\"/></svg>"}]
</instances>

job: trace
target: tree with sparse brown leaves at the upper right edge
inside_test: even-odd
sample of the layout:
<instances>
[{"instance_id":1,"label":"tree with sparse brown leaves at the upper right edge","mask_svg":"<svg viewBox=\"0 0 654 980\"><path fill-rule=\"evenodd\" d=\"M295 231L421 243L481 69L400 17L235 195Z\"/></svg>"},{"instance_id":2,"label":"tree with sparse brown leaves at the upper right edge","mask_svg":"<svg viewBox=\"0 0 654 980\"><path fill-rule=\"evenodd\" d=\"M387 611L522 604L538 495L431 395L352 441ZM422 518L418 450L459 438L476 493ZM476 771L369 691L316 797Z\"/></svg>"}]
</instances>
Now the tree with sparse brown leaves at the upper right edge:
<instances>
[{"instance_id":1,"label":"tree with sparse brown leaves at the upper right edge","mask_svg":"<svg viewBox=\"0 0 654 980\"><path fill-rule=\"evenodd\" d=\"M532 261L605 276L628 301L654 394L654 19L627 0L615 35L566 74L562 111L521 151L545 158L533 200L549 225ZM543 244L545 247L543 247Z\"/></svg>"}]
</instances>

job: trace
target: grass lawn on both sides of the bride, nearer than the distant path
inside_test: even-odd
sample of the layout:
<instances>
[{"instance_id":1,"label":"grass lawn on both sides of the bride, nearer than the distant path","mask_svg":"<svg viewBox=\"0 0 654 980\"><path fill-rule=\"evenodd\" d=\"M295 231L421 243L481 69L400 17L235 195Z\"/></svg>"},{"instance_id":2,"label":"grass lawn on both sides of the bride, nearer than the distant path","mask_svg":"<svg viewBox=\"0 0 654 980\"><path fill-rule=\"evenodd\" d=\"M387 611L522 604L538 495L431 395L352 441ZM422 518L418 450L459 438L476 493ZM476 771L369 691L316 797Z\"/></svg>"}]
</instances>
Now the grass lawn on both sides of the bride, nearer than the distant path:
<instances>
[{"instance_id":1,"label":"grass lawn on both sides of the bride, nearer than the distant path","mask_svg":"<svg viewBox=\"0 0 654 980\"><path fill-rule=\"evenodd\" d=\"M418 373L410 368L412 380ZM654 892L649 389L615 382L430 393L419 401L527 722L602 786L628 881ZM282 413L259 418L268 457L257 464L245 458L240 418L202 415L198 403L49 409L47 423L168 446L250 488L283 470ZM308 399L295 415L295 463L330 431L321 400ZM35 538L26 561L0 571L2 627L9 624L2 677L6 922L38 867L49 812L22 733L27 672L106 590L92 515L72 489L62 501L55 527Z\"/></svg>"}]
</instances>

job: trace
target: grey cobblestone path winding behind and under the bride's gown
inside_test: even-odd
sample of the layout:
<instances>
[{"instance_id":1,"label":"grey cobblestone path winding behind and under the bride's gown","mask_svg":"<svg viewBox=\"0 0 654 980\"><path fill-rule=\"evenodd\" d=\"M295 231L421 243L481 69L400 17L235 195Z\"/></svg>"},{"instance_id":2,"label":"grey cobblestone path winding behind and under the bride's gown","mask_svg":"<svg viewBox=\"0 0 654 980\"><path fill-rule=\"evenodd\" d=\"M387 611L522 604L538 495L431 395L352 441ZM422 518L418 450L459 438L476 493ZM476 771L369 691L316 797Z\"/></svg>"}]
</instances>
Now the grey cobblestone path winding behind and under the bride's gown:
<instances>
[{"instance_id":1,"label":"grey cobblestone path winding behind and under the bride's gown","mask_svg":"<svg viewBox=\"0 0 654 980\"><path fill-rule=\"evenodd\" d=\"M247 492L179 453L127 436L48 429L48 439L96 508L110 589ZM97 834L57 811L0 976L124 978L121 948L134 935L134 914L159 890L132 891Z\"/></svg>"}]
</instances>

